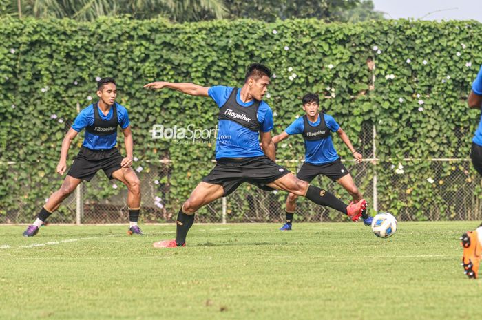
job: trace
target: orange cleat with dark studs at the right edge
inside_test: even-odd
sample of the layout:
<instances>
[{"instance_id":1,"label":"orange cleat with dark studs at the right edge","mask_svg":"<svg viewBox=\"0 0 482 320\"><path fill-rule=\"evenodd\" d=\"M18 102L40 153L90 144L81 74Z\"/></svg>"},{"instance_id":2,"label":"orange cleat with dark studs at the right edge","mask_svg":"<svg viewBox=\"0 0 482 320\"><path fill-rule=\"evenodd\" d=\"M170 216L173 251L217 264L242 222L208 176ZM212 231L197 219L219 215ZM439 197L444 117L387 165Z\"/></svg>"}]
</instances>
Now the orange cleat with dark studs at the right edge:
<instances>
[{"instance_id":1,"label":"orange cleat with dark studs at the right edge","mask_svg":"<svg viewBox=\"0 0 482 320\"><path fill-rule=\"evenodd\" d=\"M479 277L479 262L481 260L482 247L479 244L479 237L477 231L468 231L461 237L461 244L463 246L463 257L461 266L463 266L463 273L469 279L477 279Z\"/></svg>"}]
</instances>

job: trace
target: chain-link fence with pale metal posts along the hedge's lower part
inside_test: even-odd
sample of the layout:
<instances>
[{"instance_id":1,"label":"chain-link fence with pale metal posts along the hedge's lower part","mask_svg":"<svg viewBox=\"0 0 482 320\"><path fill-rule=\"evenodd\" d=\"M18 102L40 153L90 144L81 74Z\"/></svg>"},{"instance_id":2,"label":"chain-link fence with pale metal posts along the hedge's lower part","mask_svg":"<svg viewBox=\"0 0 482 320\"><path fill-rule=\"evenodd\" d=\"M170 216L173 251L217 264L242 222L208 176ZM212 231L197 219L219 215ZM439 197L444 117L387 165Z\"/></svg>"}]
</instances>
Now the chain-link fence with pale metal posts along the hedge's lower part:
<instances>
[{"instance_id":1,"label":"chain-link fence with pale metal posts along the hedge's lower part","mask_svg":"<svg viewBox=\"0 0 482 320\"><path fill-rule=\"evenodd\" d=\"M390 211L401 220L482 220L481 177L474 171L468 158L432 158L381 160L377 158L376 129L370 128L364 141L362 164L346 160L345 165L368 201L370 212ZM338 144L338 142L336 143ZM293 173L302 162L281 161ZM423 164L423 170L420 169ZM196 165L200 169L200 164ZM213 162L205 164L207 171ZM413 172L415 171L415 172ZM169 161L151 163L138 173L141 180L143 222L174 222L180 204L170 191ZM164 181L164 182L160 182ZM196 186L193 182L191 188ZM312 182L348 202L349 195L335 182L319 177ZM52 185L52 192L56 189ZM107 194L102 197L101 195ZM227 198L217 200L196 215L198 222L282 222L284 201L282 191L260 191L244 184ZM48 197L48 195L45 195ZM50 218L53 223L122 223L127 222L127 189L121 182L107 182L98 174L90 183L83 183L63 202ZM0 215L0 223L28 223L36 212L27 212L23 200L17 208ZM45 199L38 200L39 209ZM342 215L299 198L295 221L344 221Z\"/></svg>"}]
</instances>

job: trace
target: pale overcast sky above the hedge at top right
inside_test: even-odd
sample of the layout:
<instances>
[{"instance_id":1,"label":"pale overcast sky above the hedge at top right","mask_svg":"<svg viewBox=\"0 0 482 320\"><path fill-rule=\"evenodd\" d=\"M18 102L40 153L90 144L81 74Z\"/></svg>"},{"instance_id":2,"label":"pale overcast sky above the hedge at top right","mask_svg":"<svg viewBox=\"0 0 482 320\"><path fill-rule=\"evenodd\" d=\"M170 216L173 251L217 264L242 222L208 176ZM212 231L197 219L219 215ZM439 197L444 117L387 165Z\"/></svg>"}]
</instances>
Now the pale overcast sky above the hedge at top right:
<instances>
[{"instance_id":1,"label":"pale overcast sky above the hedge at top right","mask_svg":"<svg viewBox=\"0 0 482 320\"><path fill-rule=\"evenodd\" d=\"M424 20L477 20L482 22L482 0L373 0L375 10L386 12L387 18ZM451 9L451 10L445 10Z\"/></svg>"}]
</instances>

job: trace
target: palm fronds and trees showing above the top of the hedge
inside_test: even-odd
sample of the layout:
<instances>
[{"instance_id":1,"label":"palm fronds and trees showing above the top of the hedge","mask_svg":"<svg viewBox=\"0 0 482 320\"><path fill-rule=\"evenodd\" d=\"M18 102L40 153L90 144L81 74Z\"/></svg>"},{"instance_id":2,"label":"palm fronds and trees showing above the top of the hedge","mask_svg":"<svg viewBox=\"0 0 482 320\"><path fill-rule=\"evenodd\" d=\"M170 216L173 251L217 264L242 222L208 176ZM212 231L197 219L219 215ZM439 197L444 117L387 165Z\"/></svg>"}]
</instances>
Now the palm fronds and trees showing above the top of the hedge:
<instances>
[{"instance_id":1,"label":"palm fronds and trees showing above the top of the hedge","mask_svg":"<svg viewBox=\"0 0 482 320\"><path fill-rule=\"evenodd\" d=\"M189 22L247 18L273 22L276 19L317 18L325 21L382 19L370 0L24 0L23 17L71 18L93 21L98 17L129 15L134 19L165 17ZM0 16L17 16L17 1L0 0Z\"/></svg>"}]
</instances>

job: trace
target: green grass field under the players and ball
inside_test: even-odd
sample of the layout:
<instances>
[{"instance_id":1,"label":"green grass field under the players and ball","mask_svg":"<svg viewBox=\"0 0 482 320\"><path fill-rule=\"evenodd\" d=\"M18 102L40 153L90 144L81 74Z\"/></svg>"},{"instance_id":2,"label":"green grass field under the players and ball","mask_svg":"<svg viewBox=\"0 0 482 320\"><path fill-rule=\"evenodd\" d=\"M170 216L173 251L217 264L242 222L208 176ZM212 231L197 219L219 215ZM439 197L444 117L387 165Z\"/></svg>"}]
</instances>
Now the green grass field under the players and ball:
<instances>
[{"instance_id":1,"label":"green grass field under the players and ball","mask_svg":"<svg viewBox=\"0 0 482 320\"><path fill-rule=\"evenodd\" d=\"M0 319L480 319L482 281L462 273L477 222L0 226Z\"/></svg>"}]
</instances>

